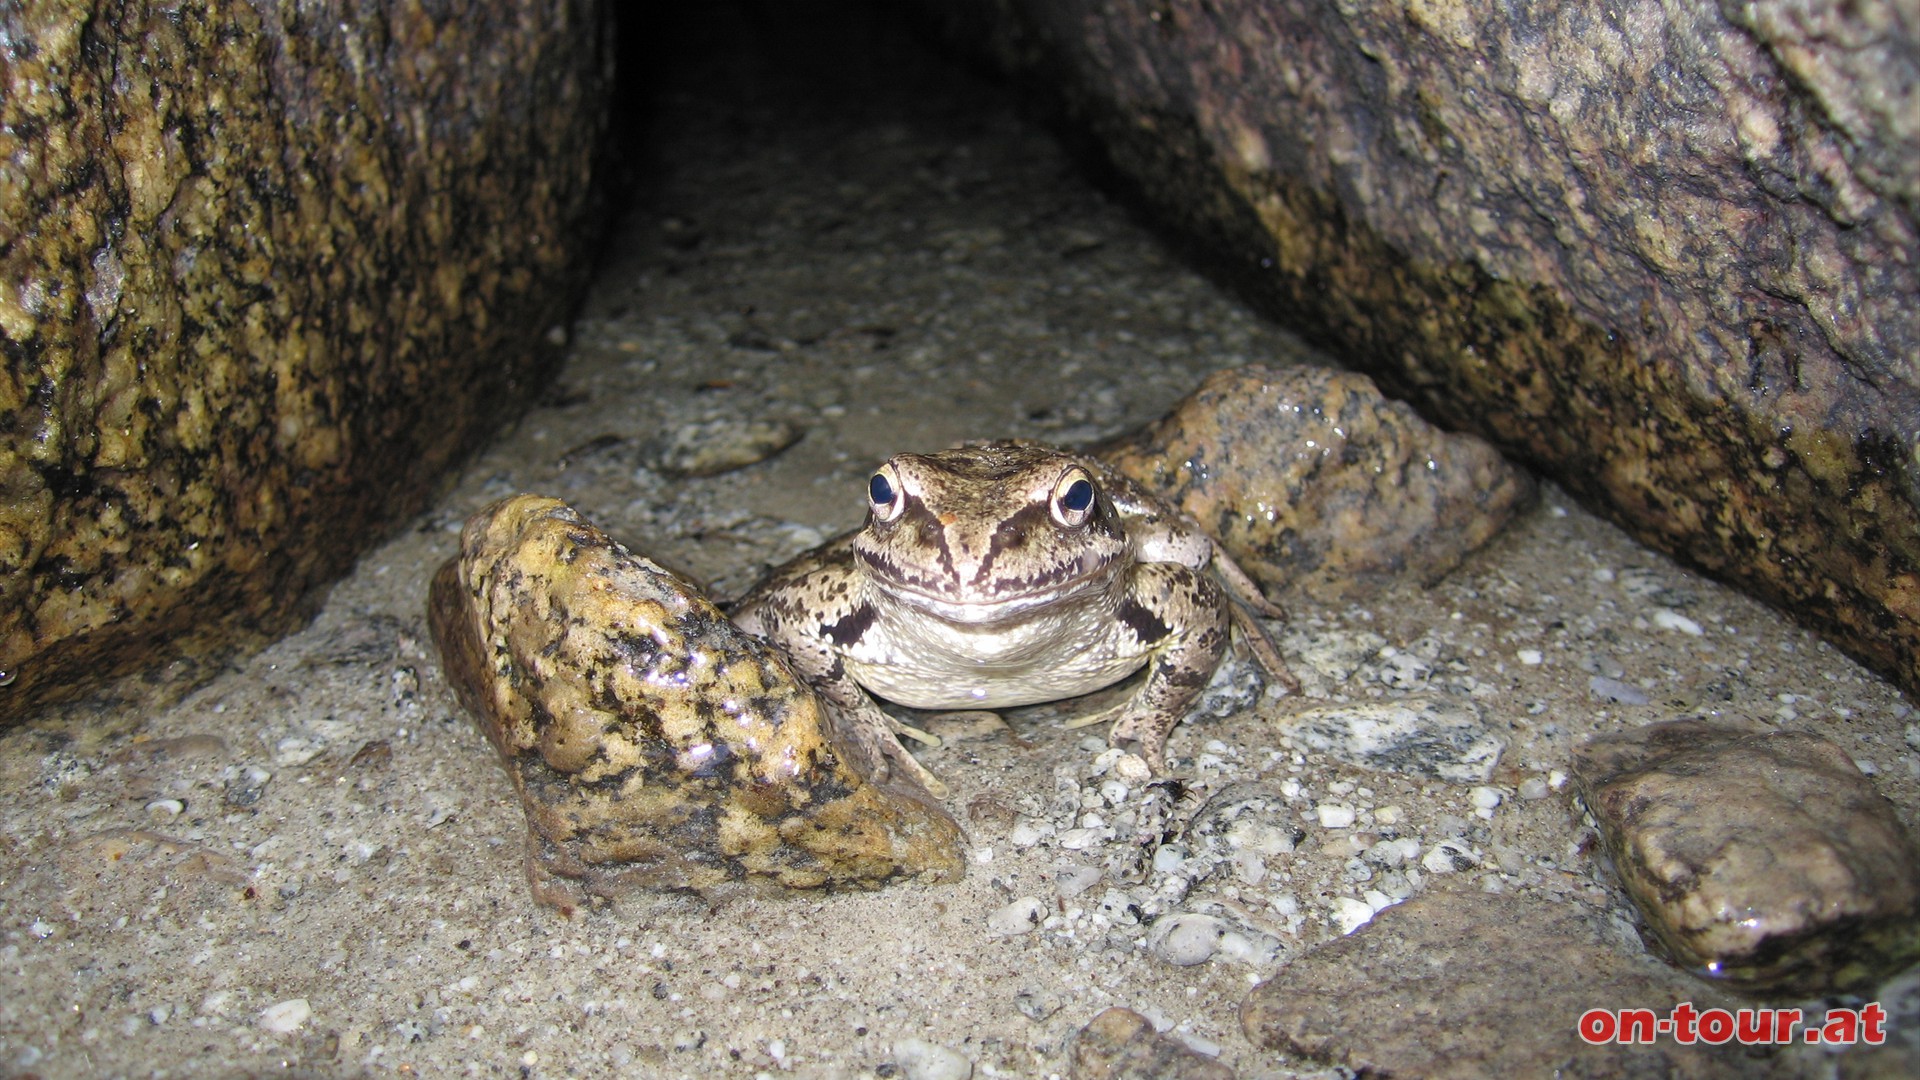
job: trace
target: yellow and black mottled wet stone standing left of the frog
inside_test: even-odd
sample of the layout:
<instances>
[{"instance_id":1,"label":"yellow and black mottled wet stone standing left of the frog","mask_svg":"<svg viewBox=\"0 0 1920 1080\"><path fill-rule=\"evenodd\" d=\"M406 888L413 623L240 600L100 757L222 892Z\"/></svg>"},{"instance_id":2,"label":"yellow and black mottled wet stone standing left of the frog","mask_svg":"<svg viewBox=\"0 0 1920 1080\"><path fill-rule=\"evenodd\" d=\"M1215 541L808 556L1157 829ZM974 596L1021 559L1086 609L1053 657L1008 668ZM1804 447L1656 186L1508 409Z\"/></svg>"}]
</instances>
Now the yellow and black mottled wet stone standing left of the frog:
<instances>
[{"instance_id":1,"label":"yellow and black mottled wet stone standing left of the frog","mask_svg":"<svg viewBox=\"0 0 1920 1080\"><path fill-rule=\"evenodd\" d=\"M943 809L868 784L781 659L559 500L476 513L428 615L526 807L547 903L962 874Z\"/></svg>"}]
</instances>

